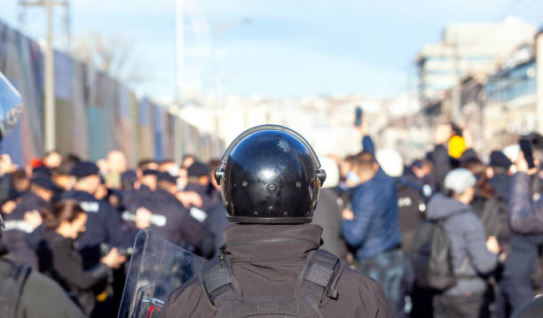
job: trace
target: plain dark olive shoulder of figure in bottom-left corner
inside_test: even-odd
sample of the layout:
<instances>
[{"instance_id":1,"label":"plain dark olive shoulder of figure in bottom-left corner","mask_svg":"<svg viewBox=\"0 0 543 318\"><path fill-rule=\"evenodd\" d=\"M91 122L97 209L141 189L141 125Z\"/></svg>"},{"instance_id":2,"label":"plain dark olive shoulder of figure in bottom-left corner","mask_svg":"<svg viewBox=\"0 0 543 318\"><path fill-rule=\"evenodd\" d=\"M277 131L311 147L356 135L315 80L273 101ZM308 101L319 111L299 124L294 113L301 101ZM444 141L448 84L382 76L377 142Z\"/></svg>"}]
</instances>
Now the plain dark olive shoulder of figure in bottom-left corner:
<instances>
[{"instance_id":1,"label":"plain dark olive shoulder of figure in bottom-left corner","mask_svg":"<svg viewBox=\"0 0 543 318\"><path fill-rule=\"evenodd\" d=\"M18 317L84 317L58 283L32 271L20 295Z\"/></svg>"}]
</instances>

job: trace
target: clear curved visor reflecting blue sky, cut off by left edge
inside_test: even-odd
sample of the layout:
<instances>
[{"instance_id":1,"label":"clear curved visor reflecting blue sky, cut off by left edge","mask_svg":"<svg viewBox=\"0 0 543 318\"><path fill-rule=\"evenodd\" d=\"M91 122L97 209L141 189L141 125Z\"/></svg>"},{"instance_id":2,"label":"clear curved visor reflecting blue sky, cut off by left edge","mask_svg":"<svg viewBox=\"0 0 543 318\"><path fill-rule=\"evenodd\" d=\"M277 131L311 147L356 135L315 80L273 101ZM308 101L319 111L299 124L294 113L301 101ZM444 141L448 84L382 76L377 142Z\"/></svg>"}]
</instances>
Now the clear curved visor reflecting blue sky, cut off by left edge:
<instances>
[{"instance_id":1,"label":"clear curved visor reflecting blue sky, cut off by left edge","mask_svg":"<svg viewBox=\"0 0 543 318\"><path fill-rule=\"evenodd\" d=\"M0 73L0 140L15 127L22 111L20 94Z\"/></svg>"}]
</instances>

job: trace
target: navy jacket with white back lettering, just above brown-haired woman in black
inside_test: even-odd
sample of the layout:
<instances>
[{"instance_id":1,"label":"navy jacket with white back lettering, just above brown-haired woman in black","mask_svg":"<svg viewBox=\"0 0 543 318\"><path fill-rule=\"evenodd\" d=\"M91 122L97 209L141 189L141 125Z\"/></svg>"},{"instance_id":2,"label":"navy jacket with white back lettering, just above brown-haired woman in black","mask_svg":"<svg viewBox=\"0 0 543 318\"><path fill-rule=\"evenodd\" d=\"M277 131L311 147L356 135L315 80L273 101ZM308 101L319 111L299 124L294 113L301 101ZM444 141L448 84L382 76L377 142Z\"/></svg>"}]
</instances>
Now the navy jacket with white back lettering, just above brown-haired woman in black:
<instances>
[{"instance_id":1,"label":"navy jacket with white back lettering, just above brown-haired woman in black","mask_svg":"<svg viewBox=\"0 0 543 318\"><path fill-rule=\"evenodd\" d=\"M77 239L77 249L82 253L85 268L98 264L100 260L100 244L127 246L130 244L121 227L121 218L112 206L105 201L98 201L94 196L84 191L70 191L62 196L79 202L87 213L87 229L82 237Z\"/></svg>"}]
</instances>

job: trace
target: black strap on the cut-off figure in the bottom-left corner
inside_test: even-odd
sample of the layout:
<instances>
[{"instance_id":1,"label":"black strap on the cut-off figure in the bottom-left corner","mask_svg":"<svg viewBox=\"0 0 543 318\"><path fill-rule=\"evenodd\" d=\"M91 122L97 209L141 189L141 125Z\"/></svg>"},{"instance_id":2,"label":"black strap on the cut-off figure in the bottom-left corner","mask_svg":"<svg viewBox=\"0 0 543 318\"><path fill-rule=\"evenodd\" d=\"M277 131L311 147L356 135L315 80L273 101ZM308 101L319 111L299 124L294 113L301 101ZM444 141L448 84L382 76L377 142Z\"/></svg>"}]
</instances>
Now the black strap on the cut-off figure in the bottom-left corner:
<instances>
[{"instance_id":1,"label":"black strap on the cut-off figure in the bottom-left corner","mask_svg":"<svg viewBox=\"0 0 543 318\"><path fill-rule=\"evenodd\" d=\"M31 269L26 264L18 265L5 258L1 261L10 263L12 270L6 277L0 277L2 282L0 283L0 318L15 318L19 307L20 294Z\"/></svg>"}]
</instances>

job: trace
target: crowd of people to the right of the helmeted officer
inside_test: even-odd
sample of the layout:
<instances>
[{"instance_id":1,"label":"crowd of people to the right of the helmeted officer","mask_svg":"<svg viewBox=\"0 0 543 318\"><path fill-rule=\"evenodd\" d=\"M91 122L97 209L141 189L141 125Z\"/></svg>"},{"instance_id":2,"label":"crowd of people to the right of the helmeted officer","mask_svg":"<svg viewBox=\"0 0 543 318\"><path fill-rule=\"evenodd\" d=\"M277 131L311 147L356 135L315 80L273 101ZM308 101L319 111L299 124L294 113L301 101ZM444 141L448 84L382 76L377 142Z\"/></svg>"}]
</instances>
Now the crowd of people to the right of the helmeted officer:
<instances>
[{"instance_id":1,"label":"crowd of people to the right of the helmeted officer","mask_svg":"<svg viewBox=\"0 0 543 318\"><path fill-rule=\"evenodd\" d=\"M363 151L339 160L334 188L342 226L322 226L334 252L381 283L396 317L509 317L539 294L543 175L518 145L484 163L468 130L444 123L432 151L405 165L375 149L367 123L358 131ZM531 140L537 155L540 136Z\"/></svg>"}]
</instances>

